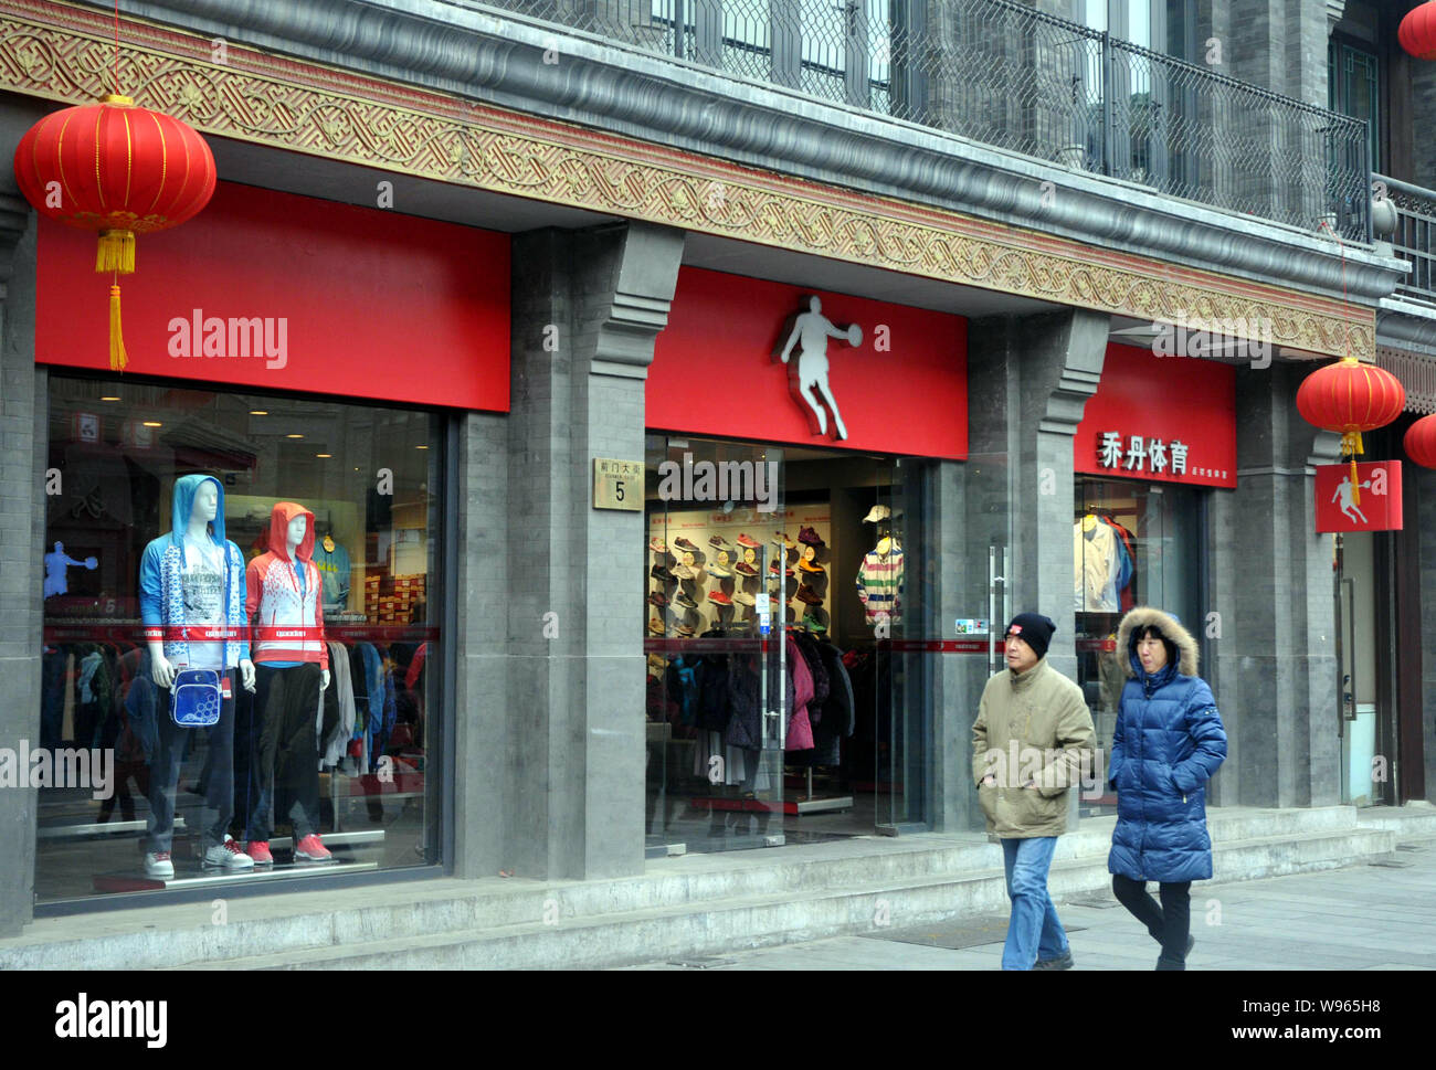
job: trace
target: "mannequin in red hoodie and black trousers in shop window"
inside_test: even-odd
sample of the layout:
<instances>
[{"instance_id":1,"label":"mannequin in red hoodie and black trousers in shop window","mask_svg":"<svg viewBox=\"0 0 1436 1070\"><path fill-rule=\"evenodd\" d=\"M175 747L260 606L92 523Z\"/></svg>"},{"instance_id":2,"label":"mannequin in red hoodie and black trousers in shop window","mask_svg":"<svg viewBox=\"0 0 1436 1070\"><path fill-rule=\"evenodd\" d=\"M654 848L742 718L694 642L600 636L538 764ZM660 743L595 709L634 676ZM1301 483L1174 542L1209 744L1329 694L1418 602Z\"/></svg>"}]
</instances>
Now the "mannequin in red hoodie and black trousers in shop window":
<instances>
[{"instance_id":1,"label":"mannequin in red hoodie and black trousers in shop window","mask_svg":"<svg viewBox=\"0 0 1436 1070\"><path fill-rule=\"evenodd\" d=\"M246 852L254 865L274 863L270 804L294 823L294 860L332 862L319 840L319 697L329 687L323 587L310 560L314 514L280 501L270 514L269 552L244 572L244 610L253 625L254 725L248 740ZM273 788L270 787L273 778ZM273 794L271 794L273 790Z\"/></svg>"}]
</instances>

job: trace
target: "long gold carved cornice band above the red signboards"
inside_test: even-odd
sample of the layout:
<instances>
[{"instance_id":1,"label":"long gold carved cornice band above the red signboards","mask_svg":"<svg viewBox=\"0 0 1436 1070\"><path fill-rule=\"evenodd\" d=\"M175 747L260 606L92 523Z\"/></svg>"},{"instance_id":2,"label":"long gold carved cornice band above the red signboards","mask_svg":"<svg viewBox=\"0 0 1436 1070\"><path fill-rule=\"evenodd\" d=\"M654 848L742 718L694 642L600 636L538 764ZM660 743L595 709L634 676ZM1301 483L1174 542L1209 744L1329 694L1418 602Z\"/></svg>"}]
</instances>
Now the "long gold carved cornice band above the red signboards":
<instances>
[{"instance_id":1,"label":"long gold carved cornice band above the red signboards","mask_svg":"<svg viewBox=\"0 0 1436 1070\"><path fill-rule=\"evenodd\" d=\"M109 90L92 9L0 0L0 89L66 103ZM1374 352L1374 310L823 187L126 19L119 78L197 129L630 220L1143 320L1268 327L1315 353ZM223 62L221 62L223 60Z\"/></svg>"}]
</instances>

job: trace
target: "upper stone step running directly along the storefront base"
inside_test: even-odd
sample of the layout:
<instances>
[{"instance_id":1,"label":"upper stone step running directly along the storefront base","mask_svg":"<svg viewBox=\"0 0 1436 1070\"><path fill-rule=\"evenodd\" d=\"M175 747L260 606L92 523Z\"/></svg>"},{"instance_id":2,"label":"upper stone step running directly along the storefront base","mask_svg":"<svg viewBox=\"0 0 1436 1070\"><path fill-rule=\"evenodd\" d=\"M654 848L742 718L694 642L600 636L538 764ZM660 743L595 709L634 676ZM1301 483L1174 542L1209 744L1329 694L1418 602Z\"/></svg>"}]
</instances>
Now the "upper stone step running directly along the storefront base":
<instances>
[{"instance_id":1,"label":"upper stone step running directly along the storefront base","mask_svg":"<svg viewBox=\"0 0 1436 1070\"><path fill-rule=\"evenodd\" d=\"M1229 869L1222 862L1225 852L1246 842L1301 843L1320 839L1323 830L1323 834L1334 834L1340 840L1341 834L1356 832L1354 813L1353 807L1281 811L1213 809L1209 826L1218 845L1218 866L1248 876L1271 875L1277 872L1275 862L1254 857ZM1088 890L1106 888L1113 823L1113 817L1083 822L1078 832L1058 840L1054 866L1061 869L1068 862L1080 863L1086 867L1083 872L1090 870L1091 875ZM1371 853L1370 843L1369 836L1357 837L1350 845L1351 855ZM1310 852L1310 847L1290 850L1301 856L1300 865L1308 865L1302 852ZM1231 857L1246 859L1245 855ZM112 922L99 926L108 931L102 939L47 941L37 935L34 939L22 936L9 945L0 944L0 967L159 968L240 959L251 955L256 946L289 957L376 939L415 941L455 932L541 925L544 918L616 916L643 911L704 912L718 902L811 899L833 889L919 888L975 875L985 875L985 879L1001 876L1001 850L981 834L867 837L794 846L783 852L744 852L741 856L689 855L656 860L642 876L615 880L424 882L404 885L402 896L358 889L340 893L340 898L353 896L352 905L345 906L329 895L299 893L284 902L276 901L271 912L250 918L243 916L241 901L236 901L236 913L241 916L225 925L211 925L208 909L154 908L164 912L154 913L141 908L123 912L125 918L105 916ZM1001 879L994 888L997 895L982 901L987 903L984 909L1001 908L1004 902ZM946 909L951 912L954 908L949 901ZM57 919L47 919L39 926L42 931L62 928Z\"/></svg>"}]
</instances>

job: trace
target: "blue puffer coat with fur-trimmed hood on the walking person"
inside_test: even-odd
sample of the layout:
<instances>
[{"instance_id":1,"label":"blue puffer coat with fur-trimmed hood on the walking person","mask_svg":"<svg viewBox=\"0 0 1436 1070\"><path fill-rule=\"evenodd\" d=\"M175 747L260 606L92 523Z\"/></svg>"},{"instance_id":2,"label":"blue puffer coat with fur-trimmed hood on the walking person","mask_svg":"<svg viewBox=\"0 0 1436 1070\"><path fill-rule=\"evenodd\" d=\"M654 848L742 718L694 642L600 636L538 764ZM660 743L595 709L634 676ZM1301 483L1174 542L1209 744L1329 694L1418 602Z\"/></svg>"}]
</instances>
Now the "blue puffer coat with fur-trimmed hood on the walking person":
<instances>
[{"instance_id":1,"label":"blue puffer coat with fur-trimmed hood on the walking person","mask_svg":"<svg viewBox=\"0 0 1436 1070\"><path fill-rule=\"evenodd\" d=\"M1178 661L1147 675L1133 632L1156 625ZM1117 827L1107 869L1133 880L1209 880L1206 781L1226 758L1226 732L1212 689L1196 675L1196 641L1172 616L1139 606L1117 632L1127 681L1113 735L1109 783L1117 790Z\"/></svg>"}]
</instances>

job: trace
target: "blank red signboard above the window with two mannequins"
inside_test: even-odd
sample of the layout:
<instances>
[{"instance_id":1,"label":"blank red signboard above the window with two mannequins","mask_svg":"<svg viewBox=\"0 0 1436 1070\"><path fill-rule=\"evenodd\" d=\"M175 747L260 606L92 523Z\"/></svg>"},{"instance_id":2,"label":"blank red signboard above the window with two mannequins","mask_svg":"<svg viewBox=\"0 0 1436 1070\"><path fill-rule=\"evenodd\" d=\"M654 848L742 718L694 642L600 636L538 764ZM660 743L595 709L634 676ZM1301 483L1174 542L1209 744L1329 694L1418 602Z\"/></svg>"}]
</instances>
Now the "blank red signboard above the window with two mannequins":
<instances>
[{"instance_id":1,"label":"blank red signboard above the window with two mannequins","mask_svg":"<svg viewBox=\"0 0 1436 1070\"><path fill-rule=\"evenodd\" d=\"M508 411L508 236L220 182L146 236L128 375ZM95 236L40 220L34 359L109 371Z\"/></svg>"}]
</instances>

